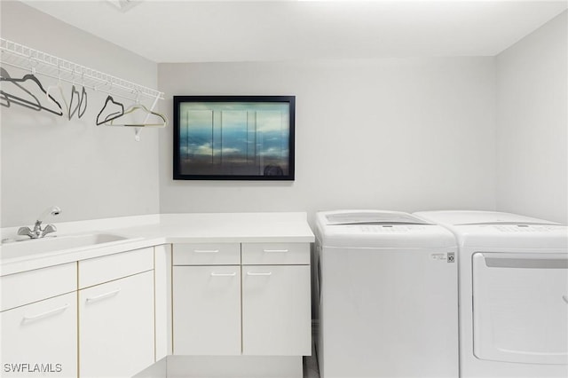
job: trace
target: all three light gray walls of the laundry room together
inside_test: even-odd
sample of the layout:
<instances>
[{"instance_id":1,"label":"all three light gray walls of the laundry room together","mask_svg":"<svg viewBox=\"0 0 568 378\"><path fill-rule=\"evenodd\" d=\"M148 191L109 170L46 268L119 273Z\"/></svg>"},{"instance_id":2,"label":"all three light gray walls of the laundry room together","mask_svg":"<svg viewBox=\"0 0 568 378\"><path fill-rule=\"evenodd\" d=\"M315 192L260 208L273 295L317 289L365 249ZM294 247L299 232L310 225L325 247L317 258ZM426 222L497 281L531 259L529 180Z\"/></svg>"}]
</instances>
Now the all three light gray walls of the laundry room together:
<instances>
[{"instance_id":1,"label":"all three light gray walls of the laundry room together","mask_svg":"<svg viewBox=\"0 0 568 378\"><path fill-rule=\"evenodd\" d=\"M296 181L173 181L172 128L0 108L2 226L156 212L501 209L566 222L566 12L496 58L160 64L19 2L4 38L150 87L296 95ZM12 70L17 75L17 70ZM22 73L23 74L23 73ZM42 78L45 85L55 81ZM51 81L50 81L51 80Z\"/></svg>"}]
</instances>

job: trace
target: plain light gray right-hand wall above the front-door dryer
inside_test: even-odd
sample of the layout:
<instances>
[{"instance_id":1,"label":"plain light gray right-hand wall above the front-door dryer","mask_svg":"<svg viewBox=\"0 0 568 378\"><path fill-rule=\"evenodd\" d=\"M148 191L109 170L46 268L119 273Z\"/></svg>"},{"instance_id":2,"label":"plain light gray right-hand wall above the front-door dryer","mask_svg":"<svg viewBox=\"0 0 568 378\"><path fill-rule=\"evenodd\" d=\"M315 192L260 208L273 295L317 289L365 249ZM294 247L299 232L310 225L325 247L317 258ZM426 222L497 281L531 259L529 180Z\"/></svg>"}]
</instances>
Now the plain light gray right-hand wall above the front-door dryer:
<instances>
[{"instance_id":1,"label":"plain light gray right-hand wall above the front-door dryer","mask_svg":"<svg viewBox=\"0 0 568 378\"><path fill-rule=\"evenodd\" d=\"M568 12L497 57L497 207L568 223Z\"/></svg>"}]
</instances>

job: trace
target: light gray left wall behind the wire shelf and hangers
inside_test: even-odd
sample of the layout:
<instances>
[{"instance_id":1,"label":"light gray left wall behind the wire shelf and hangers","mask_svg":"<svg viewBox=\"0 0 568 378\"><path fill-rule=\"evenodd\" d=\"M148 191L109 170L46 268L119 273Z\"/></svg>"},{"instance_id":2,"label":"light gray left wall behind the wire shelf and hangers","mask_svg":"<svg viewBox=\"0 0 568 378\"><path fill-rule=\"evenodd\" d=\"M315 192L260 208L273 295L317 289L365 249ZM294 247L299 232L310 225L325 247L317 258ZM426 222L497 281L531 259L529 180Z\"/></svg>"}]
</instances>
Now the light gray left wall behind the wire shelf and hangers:
<instances>
[{"instance_id":1,"label":"light gray left wall behind the wire shelf and hangers","mask_svg":"<svg viewBox=\"0 0 568 378\"><path fill-rule=\"evenodd\" d=\"M6 39L157 87L154 62L25 4L2 2L1 32ZM6 68L14 77L26 74ZM57 83L38 77L44 87ZM63 85L70 94L71 84ZM56 222L159 212L159 131L143 130L137 143L131 129L96 126L105 98L88 91L86 113L72 121L21 106L0 109L2 226L31 224L51 205L63 209Z\"/></svg>"}]
</instances>

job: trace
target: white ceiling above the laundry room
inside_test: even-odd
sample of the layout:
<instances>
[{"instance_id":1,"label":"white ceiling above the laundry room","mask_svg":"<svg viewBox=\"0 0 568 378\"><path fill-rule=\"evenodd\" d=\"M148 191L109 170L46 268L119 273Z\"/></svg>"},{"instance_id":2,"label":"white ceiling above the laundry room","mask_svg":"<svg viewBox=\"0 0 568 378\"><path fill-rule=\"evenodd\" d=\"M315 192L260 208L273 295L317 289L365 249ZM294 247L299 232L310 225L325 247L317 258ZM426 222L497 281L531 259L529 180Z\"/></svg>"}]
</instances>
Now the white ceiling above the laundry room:
<instances>
[{"instance_id":1,"label":"white ceiling above the laundry room","mask_svg":"<svg viewBox=\"0 0 568 378\"><path fill-rule=\"evenodd\" d=\"M155 62L493 56L568 1L25 1Z\"/></svg>"}]
</instances>

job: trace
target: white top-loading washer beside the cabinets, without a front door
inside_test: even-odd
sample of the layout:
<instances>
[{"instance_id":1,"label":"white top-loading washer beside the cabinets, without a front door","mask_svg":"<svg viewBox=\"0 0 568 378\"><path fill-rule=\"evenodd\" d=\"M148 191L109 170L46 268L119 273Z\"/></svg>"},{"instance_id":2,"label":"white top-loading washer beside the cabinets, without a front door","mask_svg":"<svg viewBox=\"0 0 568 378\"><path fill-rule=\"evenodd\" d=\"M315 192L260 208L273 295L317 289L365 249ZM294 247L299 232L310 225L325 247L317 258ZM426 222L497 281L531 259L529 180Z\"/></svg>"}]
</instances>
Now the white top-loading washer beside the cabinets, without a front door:
<instances>
[{"instance_id":1,"label":"white top-loading washer beside the cabinets, without a front door","mask_svg":"<svg viewBox=\"0 0 568 378\"><path fill-rule=\"evenodd\" d=\"M321 377L457 377L454 235L388 211L316 224Z\"/></svg>"}]
</instances>

